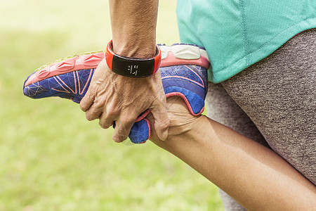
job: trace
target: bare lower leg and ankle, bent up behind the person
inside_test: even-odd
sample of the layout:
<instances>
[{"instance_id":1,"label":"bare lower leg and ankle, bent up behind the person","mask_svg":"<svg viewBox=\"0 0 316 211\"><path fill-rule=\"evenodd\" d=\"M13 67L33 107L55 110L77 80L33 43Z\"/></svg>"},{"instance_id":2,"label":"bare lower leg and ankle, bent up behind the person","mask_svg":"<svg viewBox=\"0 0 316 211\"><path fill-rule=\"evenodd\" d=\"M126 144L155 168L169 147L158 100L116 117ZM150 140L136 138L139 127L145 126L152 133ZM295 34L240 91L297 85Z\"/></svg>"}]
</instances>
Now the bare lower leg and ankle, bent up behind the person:
<instances>
[{"instance_id":1,"label":"bare lower leg and ankle, bent up behind the person","mask_svg":"<svg viewBox=\"0 0 316 211\"><path fill-rule=\"evenodd\" d=\"M179 110L169 102L170 110ZM169 138L157 145L187 162L249 210L312 210L316 187L276 153L205 116L187 131L170 117ZM178 131L173 134L173 131Z\"/></svg>"}]
</instances>

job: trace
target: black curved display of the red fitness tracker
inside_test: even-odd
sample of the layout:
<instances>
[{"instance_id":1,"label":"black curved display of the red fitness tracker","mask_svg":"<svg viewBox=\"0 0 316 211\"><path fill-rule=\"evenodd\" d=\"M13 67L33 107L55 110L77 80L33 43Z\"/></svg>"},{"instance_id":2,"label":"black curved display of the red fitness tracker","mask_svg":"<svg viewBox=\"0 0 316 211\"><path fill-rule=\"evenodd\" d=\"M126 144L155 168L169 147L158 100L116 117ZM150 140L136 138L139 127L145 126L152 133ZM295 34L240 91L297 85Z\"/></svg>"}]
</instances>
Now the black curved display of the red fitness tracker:
<instances>
[{"instance_id":1,"label":"black curved display of the red fitness tracker","mask_svg":"<svg viewBox=\"0 0 316 211\"><path fill-rule=\"evenodd\" d=\"M114 54L112 71L127 77L148 77L154 72L154 58L127 58Z\"/></svg>"}]
</instances>

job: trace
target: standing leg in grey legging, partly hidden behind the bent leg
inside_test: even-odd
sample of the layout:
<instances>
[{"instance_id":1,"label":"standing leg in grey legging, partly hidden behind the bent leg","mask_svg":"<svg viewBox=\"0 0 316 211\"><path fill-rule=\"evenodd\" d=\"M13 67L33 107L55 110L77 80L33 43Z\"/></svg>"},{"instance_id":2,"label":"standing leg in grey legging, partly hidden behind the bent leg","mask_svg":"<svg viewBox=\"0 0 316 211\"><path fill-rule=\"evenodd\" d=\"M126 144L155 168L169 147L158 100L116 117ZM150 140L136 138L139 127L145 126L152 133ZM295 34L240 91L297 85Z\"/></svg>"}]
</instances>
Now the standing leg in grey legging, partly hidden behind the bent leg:
<instances>
[{"instance_id":1,"label":"standing leg in grey legging, partly hidden behind the bent leg","mask_svg":"<svg viewBox=\"0 0 316 211\"><path fill-rule=\"evenodd\" d=\"M206 108L208 116L212 120L220 122L236 132L239 132L239 134L253 139L269 148L268 143L258 131L254 122L252 122L242 108L232 100L221 84L209 82ZM245 210L242 205L239 205L239 203L228 196L227 193L222 190L219 191L225 210Z\"/></svg>"}]
</instances>

